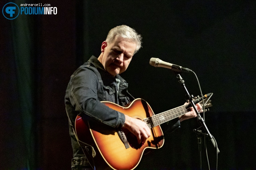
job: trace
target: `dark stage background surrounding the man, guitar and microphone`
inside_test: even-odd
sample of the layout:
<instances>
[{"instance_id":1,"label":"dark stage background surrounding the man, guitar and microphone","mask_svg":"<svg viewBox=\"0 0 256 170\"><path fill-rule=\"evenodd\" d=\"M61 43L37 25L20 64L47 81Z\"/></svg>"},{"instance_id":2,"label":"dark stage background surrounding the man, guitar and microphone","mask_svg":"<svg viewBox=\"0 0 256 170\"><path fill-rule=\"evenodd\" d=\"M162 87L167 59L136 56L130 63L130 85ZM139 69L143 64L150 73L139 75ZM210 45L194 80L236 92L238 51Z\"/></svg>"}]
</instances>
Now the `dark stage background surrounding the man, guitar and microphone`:
<instances>
[{"instance_id":1,"label":"dark stage background surrounding the man, guitar and microphone","mask_svg":"<svg viewBox=\"0 0 256 170\"><path fill-rule=\"evenodd\" d=\"M72 148L64 95L71 74L117 25L143 37L121 76L135 98L155 114L185 102L175 74L149 65L151 57L192 69L202 93L214 93L205 122L220 149L218 169L256 169L255 1L1 1L47 3L57 15L0 15L0 169L70 169ZM190 94L200 94L194 74L181 73ZM136 169L199 169L196 119L142 157ZM204 143L204 142L203 142ZM210 168L216 151L206 141ZM203 169L207 169L205 150Z\"/></svg>"}]
</instances>

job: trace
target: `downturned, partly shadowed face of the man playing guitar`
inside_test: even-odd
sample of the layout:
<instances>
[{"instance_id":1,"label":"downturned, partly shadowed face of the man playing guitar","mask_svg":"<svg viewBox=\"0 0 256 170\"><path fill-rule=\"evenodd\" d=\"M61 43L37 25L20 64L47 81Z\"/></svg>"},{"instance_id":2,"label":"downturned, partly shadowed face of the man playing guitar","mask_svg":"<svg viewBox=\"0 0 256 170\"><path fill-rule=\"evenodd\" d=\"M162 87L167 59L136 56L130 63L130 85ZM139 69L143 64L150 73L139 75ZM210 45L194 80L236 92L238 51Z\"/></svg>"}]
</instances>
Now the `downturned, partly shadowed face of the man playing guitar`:
<instances>
[{"instance_id":1,"label":"downturned, partly shadowed face of the man playing guitar","mask_svg":"<svg viewBox=\"0 0 256 170\"><path fill-rule=\"evenodd\" d=\"M115 76L124 72L129 66L136 50L136 43L115 37L112 43L104 41L101 45L101 64L105 70Z\"/></svg>"}]
</instances>

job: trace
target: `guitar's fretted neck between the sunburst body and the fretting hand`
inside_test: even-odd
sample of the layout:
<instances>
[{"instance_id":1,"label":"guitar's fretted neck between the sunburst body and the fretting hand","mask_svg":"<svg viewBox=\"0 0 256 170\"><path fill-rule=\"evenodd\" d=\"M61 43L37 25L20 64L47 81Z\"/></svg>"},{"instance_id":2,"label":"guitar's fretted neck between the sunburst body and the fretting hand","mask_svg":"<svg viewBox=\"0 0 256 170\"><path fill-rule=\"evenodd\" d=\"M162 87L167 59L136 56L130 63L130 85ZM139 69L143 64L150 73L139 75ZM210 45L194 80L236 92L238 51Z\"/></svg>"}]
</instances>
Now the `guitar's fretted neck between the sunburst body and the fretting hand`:
<instances>
[{"instance_id":1,"label":"guitar's fretted neck between the sunburst body and the fretting hand","mask_svg":"<svg viewBox=\"0 0 256 170\"><path fill-rule=\"evenodd\" d=\"M165 123L172 119L175 119L176 117L186 114L188 112L187 106L188 105L183 105L183 106L176 107L174 109L159 113L157 115L148 117L148 118L144 119L144 122L147 123L149 128L153 128L162 123Z\"/></svg>"}]
</instances>

